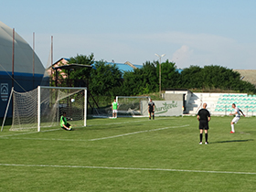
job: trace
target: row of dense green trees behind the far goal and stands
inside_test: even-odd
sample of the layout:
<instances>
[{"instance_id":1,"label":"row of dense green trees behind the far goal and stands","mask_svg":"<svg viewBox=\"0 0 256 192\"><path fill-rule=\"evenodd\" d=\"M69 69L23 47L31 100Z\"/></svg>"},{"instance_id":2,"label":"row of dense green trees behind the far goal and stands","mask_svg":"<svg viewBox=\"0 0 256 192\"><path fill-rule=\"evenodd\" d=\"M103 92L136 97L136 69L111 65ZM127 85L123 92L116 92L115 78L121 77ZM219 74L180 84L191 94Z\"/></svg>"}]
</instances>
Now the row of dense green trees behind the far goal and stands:
<instances>
[{"instance_id":1,"label":"row of dense green trees behind the far goal and stands","mask_svg":"<svg viewBox=\"0 0 256 192\"><path fill-rule=\"evenodd\" d=\"M146 61L141 69L122 72L115 64L106 61L94 61L94 55L77 55L69 59L69 64L90 65L92 68L75 69L69 71L68 78L77 81L89 82L90 91L94 95L141 95L159 91L159 62ZM68 70L62 70L68 74ZM59 73L59 80L65 79ZM69 81L70 82L70 81ZM79 84L80 85L80 84ZM68 85L69 86L69 85ZM87 86L87 83L80 86ZM190 66L179 73L176 63L168 59L161 63L161 87L183 89L221 89L240 92L256 92L255 87L246 81L240 80L240 73L221 66Z\"/></svg>"}]
</instances>

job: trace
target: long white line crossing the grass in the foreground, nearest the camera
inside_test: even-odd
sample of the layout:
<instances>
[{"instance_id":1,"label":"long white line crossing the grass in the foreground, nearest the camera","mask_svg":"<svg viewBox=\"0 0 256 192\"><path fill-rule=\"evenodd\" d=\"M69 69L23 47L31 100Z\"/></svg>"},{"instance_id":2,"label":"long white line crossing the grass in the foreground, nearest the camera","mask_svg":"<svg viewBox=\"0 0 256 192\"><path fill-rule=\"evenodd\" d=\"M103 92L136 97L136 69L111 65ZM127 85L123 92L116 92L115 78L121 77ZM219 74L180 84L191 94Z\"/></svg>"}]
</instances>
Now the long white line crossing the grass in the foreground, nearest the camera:
<instances>
[{"instance_id":1,"label":"long white line crossing the grass in the foreground, nearest the camera","mask_svg":"<svg viewBox=\"0 0 256 192\"><path fill-rule=\"evenodd\" d=\"M135 167L82 166L82 165L22 165L22 164L0 164L0 165L1 166L26 166L26 167L88 168L88 169L169 171L169 172L208 173L208 174L256 175L256 173L253 173L253 172L207 171L207 170L165 169L165 168L135 168Z\"/></svg>"}]
</instances>

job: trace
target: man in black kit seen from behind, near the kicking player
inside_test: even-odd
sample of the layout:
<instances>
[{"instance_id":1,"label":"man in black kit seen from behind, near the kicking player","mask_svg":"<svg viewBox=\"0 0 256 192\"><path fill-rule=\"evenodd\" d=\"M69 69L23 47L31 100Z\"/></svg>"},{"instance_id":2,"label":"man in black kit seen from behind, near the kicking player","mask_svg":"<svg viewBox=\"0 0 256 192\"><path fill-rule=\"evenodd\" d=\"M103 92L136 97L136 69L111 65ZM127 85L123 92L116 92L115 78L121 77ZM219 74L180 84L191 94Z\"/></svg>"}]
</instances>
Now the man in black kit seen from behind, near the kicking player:
<instances>
[{"instance_id":1,"label":"man in black kit seen from behind, near the kicking player","mask_svg":"<svg viewBox=\"0 0 256 192\"><path fill-rule=\"evenodd\" d=\"M200 130L200 143L202 144L203 139L203 130L205 130L206 143L208 144L208 122L210 121L210 114L208 112L207 103L203 104L203 108L197 113L197 120L199 121L199 130Z\"/></svg>"}]
</instances>

